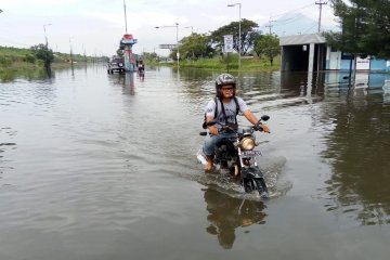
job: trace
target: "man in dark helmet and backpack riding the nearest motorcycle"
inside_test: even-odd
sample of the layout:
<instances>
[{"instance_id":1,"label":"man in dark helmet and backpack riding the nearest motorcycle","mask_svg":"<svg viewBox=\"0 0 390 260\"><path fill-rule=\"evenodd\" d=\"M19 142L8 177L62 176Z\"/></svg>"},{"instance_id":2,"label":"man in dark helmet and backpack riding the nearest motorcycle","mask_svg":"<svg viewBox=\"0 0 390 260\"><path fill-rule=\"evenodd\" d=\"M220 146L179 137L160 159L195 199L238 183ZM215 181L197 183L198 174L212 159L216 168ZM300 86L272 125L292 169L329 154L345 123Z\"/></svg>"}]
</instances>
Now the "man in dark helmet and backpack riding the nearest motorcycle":
<instances>
[{"instance_id":1,"label":"man in dark helmet and backpack riding the nearest motorcycle","mask_svg":"<svg viewBox=\"0 0 390 260\"><path fill-rule=\"evenodd\" d=\"M232 131L222 131L225 126L238 128L237 113L240 112L249 122L257 125L259 119L250 112L245 101L236 96L236 81L230 74L221 74L216 79L217 96L206 106L206 127L208 133L205 138L203 152L206 155L207 166L205 172L213 168L213 157L217 143L234 135ZM261 126L264 132L270 132L265 125Z\"/></svg>"}]
</instances>

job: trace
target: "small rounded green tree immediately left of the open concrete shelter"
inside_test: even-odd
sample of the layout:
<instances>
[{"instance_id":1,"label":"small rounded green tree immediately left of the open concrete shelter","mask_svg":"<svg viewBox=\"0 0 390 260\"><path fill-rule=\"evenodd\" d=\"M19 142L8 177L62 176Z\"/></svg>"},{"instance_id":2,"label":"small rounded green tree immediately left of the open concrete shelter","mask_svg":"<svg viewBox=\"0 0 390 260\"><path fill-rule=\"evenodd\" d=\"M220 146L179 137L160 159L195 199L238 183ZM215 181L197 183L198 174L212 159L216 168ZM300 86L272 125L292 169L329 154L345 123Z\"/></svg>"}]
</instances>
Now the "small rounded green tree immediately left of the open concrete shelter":
<instances>
[{"instance_id":1,"label":"small rounded green tree immediately left of the open concrete shelter","mask_svg":"<svg viewBox=\"0 0 390 260\"><path fill-rule=\"evenodd\" d=\"M273 58L281 52L280 40L275 35L264 35L256 42L255 52L258 56L264 55L270 60L271 66Z\"/></svg>"}]
</instances>

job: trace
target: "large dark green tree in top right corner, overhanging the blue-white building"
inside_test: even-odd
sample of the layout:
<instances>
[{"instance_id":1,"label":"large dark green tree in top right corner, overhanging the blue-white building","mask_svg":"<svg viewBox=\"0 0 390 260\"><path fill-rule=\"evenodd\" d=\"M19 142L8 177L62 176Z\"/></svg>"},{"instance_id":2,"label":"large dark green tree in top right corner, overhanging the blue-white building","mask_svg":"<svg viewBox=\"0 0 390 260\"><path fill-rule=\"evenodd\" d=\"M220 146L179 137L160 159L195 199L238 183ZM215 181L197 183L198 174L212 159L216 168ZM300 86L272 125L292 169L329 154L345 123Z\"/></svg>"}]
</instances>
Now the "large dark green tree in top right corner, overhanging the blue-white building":
<instances>
[{"instance_id":1,"label":"large dark green tree in top right corner, overhanging the blue-white building","mask_svg":"<svg viewBox=\"0 0 390 260\"><path fill-rule=\"evenodd\" d=\"M389 0L332 0L341 31L326 31L329 46L360 56L390 57Z\"/></svg>"}]
</instances>

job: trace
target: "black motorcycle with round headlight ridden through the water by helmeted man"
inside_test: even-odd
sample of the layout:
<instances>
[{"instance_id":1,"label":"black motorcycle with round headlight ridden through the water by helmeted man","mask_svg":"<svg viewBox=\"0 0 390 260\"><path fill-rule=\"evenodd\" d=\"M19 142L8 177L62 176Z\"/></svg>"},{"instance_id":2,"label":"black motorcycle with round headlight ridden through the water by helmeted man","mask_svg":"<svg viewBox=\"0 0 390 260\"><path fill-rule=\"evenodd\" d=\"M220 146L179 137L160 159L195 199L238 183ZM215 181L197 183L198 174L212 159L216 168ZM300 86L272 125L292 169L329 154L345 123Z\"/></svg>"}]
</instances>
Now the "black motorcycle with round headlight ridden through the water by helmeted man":
<instances>
[{"instance_id":1,"label":"black motorcycle with round headlight ridden through the water by helmeted man","mask_svg":"<svg viewBox=\"0 0 390 260\"><path fill-rule=\"evenodd\" d=\"M229 126L222 128L222 131L233 131L234 136L223 139L217 144L214 153L214 166L220 169L226 169L227 172L236 180L240 181L246 193L258 191L260 198L268 199L269 191L264 181L256 157L261 152L255 150L259 145L255 141L255 132L262 131L262 122L269 120L270 117L264 115L259 122L247 129L234 129ZM200 132L206 135L207 132ZM202 164L206 164L206 156L202 148L197 154L197 158Z\"/></svg>"}]
</instances>

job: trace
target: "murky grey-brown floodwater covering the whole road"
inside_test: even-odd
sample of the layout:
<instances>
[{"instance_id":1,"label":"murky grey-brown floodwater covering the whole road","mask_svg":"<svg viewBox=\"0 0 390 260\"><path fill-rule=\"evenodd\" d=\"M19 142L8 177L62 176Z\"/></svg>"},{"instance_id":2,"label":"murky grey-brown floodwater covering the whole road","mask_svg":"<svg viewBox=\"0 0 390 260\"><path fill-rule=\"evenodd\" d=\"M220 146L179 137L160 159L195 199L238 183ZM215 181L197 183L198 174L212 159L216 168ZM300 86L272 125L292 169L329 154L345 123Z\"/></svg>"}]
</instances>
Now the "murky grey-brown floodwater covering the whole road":
<instances>
[{"instance_id":1,"label":"murky grey-brown floodwater covering the whole road","mask_svg":"<svg viewBox=\"0 0 390 260\"><path fill-rule=\"evenodd\" d=\"M235 75L271 117L259 202L196 160L218 74L1 81L0 259L388 259L389 75Z\"/></svg>"}]
</instances>

